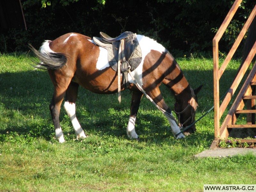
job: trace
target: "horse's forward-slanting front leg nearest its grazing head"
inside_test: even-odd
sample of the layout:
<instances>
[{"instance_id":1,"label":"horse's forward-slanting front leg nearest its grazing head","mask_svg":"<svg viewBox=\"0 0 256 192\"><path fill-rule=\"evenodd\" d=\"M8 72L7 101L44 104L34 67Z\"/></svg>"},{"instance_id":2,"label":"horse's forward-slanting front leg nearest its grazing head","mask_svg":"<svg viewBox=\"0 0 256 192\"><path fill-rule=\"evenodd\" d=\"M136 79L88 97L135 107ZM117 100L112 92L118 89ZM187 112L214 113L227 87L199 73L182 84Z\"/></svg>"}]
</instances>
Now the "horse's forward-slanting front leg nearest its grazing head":
<instances>
[{"instance_id":1,"label":"horse's forward-slanting front leg nearest its grazing head","mask_svg":"<svg viewBox=\"0 0 256 192\"><path fill-rule=\"evenodd\" d=\"M148 90L148 92L146 91ZM146 93L148 94L149 97L151 97L154 102L162 109L164 109L166 112L168 112L171 116L172 116L172 111L171 109L166 105L165 101L164 101L164 98L163 96L161 95L161 92L159 90L158 87L148 87L146 89ZM164 114L164 113L163 113ZM180 128L179 126L177 125L176 121L174 120L174 117L172 116L172 118L170 116L167 116L164 114L164 116L168 119L170 125L171 125L171 129L172 129L172 133L174 135L174 137L176 137L175 135L177 133L180 132ZM185 136L180 133L176 139L182 139L182 138L185 138Z\"/></svg>"}]
</instances>

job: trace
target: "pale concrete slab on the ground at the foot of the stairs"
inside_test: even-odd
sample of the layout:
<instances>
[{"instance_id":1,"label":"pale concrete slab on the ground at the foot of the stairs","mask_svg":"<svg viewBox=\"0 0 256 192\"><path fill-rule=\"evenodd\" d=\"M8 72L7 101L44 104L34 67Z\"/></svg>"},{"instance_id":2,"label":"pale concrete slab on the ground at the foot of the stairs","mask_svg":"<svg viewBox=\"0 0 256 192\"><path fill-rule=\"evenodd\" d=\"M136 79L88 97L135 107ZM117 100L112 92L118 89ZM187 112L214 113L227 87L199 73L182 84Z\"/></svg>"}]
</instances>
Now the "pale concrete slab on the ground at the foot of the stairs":
<instances>
[{"instance_id":1,"label":"pale concrete slab on the ground at the foot of the stairs","mask_svg":"<svg viewBox=\"0 0 256 192\"><path fill-rule=\"evenodd\" d=\"M195 155L195 157L228 157L238 154L245 155L247 153L253 153L254 155L256 155L256 148L217 148L213 150L209 149Z\"/></svg>"}]
</instances>

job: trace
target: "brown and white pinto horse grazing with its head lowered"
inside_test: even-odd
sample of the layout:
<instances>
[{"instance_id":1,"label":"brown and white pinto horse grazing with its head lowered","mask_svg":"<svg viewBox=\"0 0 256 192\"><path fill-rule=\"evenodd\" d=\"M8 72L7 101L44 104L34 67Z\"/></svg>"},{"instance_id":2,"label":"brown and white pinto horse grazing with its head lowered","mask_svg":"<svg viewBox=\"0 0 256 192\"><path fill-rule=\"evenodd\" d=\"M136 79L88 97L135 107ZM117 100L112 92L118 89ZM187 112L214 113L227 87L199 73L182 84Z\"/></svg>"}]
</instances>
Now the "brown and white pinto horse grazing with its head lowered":
<instances>
[{"instance_id":1,"label":"brown and white pinto horse grazing with its head lowered","mask_svg":"<svg viewBox=\"0 0 256 192\"><path fill-rule=\"evenodd\" d=\"M181 68L172 54L155 40L136 35L142 52L139 66L128 76L128 87L132 92L130 117L126 128L129 139L139 140L135 131L135 121L140 100L147 94L159 108L164 109L172 133L176 139L194 133L195 125L181 133L179 126L188 126L195 121L198 106L197 93L202 86L193 90ZM112 94L118 91L117 72L108 62L107 50L95 44L93 39L78 33L68 33L55 40L46 40L37 51L32 45L30 49L40 62L34 62L34 67L47 69L54 86L52 101L49 105L55 130L55 139L65 142L60 126L60 107L65 96L64 108L71 120L76 138L88 137L76 118L76 99L79 85L99 94ZM121 76L123 77L123 76ZM136 83L135 83L136 81ZM160 84L166 85L176 99L174 111L178 122L172 115L172 110L165 103L159 90ZM136 84L143 89L142 92ZM121 91L124 84L121 82ZM168 115L169 114L169 115Z\"/></svg>"}]
</instances>

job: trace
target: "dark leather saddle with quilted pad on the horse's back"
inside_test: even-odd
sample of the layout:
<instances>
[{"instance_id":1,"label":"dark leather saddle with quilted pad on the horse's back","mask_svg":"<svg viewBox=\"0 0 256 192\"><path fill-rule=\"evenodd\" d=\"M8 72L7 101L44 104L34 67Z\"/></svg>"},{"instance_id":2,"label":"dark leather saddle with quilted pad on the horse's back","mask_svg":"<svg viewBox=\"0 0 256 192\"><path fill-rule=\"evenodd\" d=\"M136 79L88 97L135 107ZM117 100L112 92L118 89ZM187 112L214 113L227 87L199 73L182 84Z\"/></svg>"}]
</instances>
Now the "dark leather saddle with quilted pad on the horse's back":
<instances>
[{"instance_id":1,"label":"dark leather saddle with quilted pad on the horse's back","mask_svg":"<svg viewBox=\"0 0 256 192\"><path fill-rule=\"evenodd\" d=\"M108 62L111 68L115 71L117 71L121 40L124 40L123 51L125 57L123 59L121 58L121 72L124 74L128 68L130 68L131 71L135 70L142 60L142 53L136 34L126 31L120 36L112 38L107 34L100 32L100 37L93 37L95 44L108 50ZM125 76L127 76L127 74L123 75L123 83L124 87L127 88L128 83Z\"/></svg>"}]
</instances>

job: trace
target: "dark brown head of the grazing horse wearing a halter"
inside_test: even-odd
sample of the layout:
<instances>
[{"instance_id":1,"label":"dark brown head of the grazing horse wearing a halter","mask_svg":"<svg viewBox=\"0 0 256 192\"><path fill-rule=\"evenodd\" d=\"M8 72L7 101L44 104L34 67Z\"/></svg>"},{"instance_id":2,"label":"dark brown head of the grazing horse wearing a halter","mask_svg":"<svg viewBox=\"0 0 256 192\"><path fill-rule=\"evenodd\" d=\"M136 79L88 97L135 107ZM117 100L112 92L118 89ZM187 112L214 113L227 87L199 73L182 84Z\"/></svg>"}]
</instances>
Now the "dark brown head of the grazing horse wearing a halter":
<instances>
[{"instance_id":1,"label":"dark brown head of the grazing horse wearing a halter","mask_svg":"<svg viewBox=\"0 0 256 192\"><path fill-rule=\"evenodd\" d=\"M189 94L189 100L183 99L182 102L178 102L176 100L176 103L174 106L174 112L177 115L178 124L180 128L181 127L186 128L187 126L195 122L196 108L198 107L197 93L201 90L201 88L202 88L202 85L196 88L195 90L190 88L191 94ZM196 131L196 126L192 125L183 134L189 135L190 133L194 133L195 131Z\"/></svg>"}]
</instances>

